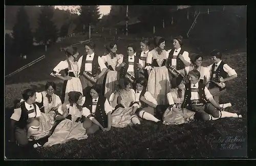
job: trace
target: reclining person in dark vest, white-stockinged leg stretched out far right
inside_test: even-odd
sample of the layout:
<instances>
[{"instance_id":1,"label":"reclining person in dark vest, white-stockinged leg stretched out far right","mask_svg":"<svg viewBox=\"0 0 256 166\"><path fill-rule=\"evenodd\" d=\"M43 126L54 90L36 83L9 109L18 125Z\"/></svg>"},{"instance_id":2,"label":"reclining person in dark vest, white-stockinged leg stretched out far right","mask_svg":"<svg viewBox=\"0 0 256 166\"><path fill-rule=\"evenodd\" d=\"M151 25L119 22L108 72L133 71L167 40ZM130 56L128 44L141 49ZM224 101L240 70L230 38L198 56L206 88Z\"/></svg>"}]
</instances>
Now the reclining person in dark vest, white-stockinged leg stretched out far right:
<instances>
[{"instance_id":1,"label":"reclining person in dark vest, white-stockinged leg stretched out far right","mask_svg":"<svg viewBox=\"0 0 256 166\"><path fill-rule=\"evenodd\" d=\"M223 111L223 108L214 100L209 90L204 84L199 82L200 72L192 70L188 72L189 83L185 85L185 97L181 105L185 108L187 105L195 111L195 117L202 120L216 120L223 117L237 117L242 115Z\"/></svg>"}]
</instances>

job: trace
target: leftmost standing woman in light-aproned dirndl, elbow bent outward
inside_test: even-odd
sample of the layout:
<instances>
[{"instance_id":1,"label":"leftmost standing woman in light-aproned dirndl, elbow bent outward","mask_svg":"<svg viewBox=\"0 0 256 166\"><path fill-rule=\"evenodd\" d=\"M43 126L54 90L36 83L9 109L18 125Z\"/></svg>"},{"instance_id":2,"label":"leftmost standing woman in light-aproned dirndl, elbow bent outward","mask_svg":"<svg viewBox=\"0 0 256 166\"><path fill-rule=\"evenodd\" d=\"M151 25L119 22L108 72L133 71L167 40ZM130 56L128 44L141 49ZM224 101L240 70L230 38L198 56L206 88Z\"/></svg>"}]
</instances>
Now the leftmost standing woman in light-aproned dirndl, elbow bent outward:
<instances>
[{"instance_id":1,"label":"leftmost standing woman in light-aproned dirndl, elbow bent outward","mask_svg":"<svg viewBox=\"0 0 256 166\"><path fill-rule=\"evenodd\" d=\"M53 69L52 76L64 80L62 86L61 102L68 100L68 93L71 91L81 92L82 85L79 79L79 68L77 64L78 51L76 47L68 47L65 49L67 56L66 60L60 61L60 63ZM59 72L65 70L66 76L63 77Z\"/></svg>"}]
</instances>

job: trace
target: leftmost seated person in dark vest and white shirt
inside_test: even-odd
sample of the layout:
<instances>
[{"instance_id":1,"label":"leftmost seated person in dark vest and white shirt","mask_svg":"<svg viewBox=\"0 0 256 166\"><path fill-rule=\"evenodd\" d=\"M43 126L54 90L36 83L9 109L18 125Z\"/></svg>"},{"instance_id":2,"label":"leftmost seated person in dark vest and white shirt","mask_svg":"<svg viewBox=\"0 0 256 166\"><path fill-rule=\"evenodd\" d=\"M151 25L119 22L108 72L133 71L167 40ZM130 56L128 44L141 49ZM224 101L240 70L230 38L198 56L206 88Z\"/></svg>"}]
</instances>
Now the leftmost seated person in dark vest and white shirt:
<instances>
[{"instance_id":1,"label":"leftmost seated person in dark vest and white shirt","mask_svg":"<svg viewBox=\"0 0 256 166\"><path fill-rule=\"evenodd\" d=\"M28 146L30 136L39 129L40 110L35 104L36 92L26 89L22 94L25 102L20 103L11 116L11 137L20 147Z\"/></svg>"}]
</instances>

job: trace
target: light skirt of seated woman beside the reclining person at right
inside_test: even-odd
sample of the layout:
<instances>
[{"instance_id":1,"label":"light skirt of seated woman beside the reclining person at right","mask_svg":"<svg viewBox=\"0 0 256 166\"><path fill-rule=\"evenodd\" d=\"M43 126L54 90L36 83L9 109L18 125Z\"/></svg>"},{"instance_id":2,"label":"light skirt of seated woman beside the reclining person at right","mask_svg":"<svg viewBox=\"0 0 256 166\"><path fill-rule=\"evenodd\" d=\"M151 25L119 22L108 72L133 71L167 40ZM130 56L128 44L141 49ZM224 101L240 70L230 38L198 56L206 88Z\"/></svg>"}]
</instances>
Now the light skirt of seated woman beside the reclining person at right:
<instances>
[{"instance_id":1,"label":"light skirt of seated woman beside the reclining person at right","mask_svg":"<svg viewBox=\"0 0 256 166\"><path fill-rule=\"evenodd\" d=\"M163 114L163 123L169 124L183 124L188 123L194 119L195 112L188 109L179 110L179 112L173 111L170 107L166 109Z\"/></svg>"}]
</instances>

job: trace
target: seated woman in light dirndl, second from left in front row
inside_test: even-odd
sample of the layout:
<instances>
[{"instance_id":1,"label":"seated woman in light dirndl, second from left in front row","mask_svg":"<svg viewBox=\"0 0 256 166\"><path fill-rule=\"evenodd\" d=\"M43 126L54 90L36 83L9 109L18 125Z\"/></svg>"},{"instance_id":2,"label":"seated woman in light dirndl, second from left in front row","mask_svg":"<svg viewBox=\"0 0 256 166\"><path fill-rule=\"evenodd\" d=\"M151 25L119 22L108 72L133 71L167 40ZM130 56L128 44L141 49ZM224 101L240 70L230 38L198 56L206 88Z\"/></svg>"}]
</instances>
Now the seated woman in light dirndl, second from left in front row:
<instances>
[{"instance_id":1,"label":"seated woman in light dirndl, second from left in front row","mask_svg":"<svg viewBox=\"0 0 256 166\"><path fill-rule=\"evenodd\" d=\"M55 111L61 106L61 100L58 95L54 94L56 84L52 81L46 83L45 91L36 92L36 105L41 111L40 127L37 133L33 134L33 139L40 139L49 136L50 132L54 130L58 121L55 121ZM20 100L21 102L23 101Z\"/></svg>"}]
</instances>

